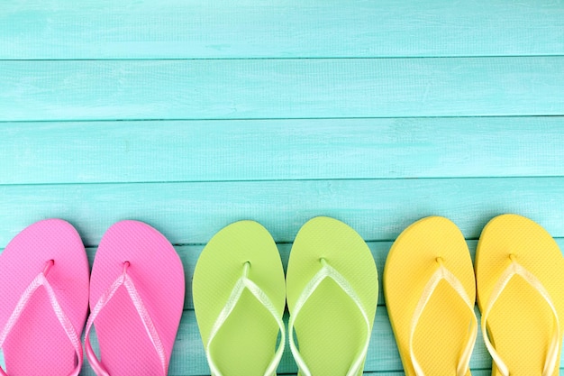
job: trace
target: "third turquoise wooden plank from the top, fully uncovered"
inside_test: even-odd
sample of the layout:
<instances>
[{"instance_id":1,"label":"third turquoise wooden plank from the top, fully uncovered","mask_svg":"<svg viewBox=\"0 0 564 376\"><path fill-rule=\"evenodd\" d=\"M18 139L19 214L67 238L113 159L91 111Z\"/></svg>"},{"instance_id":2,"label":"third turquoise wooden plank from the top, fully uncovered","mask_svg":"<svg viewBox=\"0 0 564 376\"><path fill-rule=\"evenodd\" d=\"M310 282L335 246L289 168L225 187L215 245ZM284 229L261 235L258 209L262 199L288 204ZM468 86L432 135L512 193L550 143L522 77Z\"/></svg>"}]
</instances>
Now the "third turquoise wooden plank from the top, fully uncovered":
<instances>
[{"instance_id":1,"label":"third turquoise wooden plank from the top, fully uncovered","mask_svg":"<svg viewBox=\"0 0 564 376\"><path fill-rule=\"evenodd\" d=\"M0 184L562 176L563 129L559 116L5 123Z\"/></svg>"}]
</instances>

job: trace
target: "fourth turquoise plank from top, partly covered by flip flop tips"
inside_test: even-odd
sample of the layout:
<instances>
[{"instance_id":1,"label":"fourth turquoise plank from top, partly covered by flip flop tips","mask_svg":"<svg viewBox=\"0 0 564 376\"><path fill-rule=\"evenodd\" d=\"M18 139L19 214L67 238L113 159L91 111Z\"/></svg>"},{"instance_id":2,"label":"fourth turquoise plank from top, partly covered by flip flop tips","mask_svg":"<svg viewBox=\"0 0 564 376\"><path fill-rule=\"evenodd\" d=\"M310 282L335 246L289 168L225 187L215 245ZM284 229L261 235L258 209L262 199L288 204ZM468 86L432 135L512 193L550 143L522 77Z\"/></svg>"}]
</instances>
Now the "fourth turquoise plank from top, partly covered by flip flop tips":
<instances>
[{"instance_id":1,"label":"fourth turquoise plank from top, partly covered by flip flop tips","mask_svg":"<svg viewBox=\"0 0 564 376\"><path fill-rule=\"evenodd\" d=\"M0 246L25 226L59 217L86 245L123 219L154 225L171 243L204 244L241 219L279 243L314 216L348 223L367 241L392 240L423 216L446 216L477 239L493 216L517 213L564 236L564 178L279 180L214 183L0 186Z\"/></svg>"}]
</instances>

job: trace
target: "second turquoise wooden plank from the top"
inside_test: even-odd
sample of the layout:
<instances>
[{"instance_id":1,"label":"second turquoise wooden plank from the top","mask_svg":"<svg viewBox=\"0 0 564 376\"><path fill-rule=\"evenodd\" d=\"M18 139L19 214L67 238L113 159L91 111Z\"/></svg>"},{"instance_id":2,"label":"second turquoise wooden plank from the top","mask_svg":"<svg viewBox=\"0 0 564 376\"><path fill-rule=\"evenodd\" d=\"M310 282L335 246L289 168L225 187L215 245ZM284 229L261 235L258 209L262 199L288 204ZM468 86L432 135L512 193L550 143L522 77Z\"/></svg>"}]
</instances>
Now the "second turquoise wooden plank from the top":
<instances>
[{"instance_id":1,"label":"second turquoise wooden plank from the top","mask_svg":"<svg viewBox=\"0 0 564 376\"><path fill-rule=\"evenodd\" d=\"M564 115L564 56L0 61L0 121Z\"/></svg>"}]
</instances>

